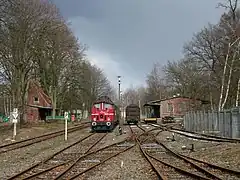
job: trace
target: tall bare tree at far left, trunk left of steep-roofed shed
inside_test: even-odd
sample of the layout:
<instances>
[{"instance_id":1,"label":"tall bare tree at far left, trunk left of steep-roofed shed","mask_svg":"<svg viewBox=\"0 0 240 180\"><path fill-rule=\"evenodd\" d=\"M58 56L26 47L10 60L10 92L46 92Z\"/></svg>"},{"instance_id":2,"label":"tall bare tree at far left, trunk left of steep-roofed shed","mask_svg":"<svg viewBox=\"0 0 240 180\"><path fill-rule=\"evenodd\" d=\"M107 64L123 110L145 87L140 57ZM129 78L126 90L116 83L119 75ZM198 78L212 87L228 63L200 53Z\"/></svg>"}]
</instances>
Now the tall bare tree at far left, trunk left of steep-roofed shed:
<instances>
[{"instance_id":1,"label":"tall bare tree at far left, trunk left of steep-roofed shed","mask_svg":"<svg viewBox=\"0 0 240 180\"><path fill-rule=\"evenodd\" d=\"M49 26L47 22L53 13L52 7L48 1L11 0L3 8L4 23L0 29L2 77L11 84L13 103L20 110L21 124L24 119L28 81L35 68L34 51L39 50L35 44L36 37L42 34L41 29Z\"/></svg>"}]
</instances>

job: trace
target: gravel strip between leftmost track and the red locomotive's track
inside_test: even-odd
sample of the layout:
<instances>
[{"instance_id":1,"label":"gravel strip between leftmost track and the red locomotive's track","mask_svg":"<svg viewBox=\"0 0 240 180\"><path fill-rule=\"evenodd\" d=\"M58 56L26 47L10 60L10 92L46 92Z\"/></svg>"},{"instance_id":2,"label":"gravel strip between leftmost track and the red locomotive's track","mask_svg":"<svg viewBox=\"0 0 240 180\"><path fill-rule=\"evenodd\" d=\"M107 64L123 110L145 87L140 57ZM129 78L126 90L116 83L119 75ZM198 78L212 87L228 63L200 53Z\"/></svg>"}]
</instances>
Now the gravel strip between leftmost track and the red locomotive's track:
<instances>
[{"instance_id":1,"label":"gravel strip between leftmost track and the red locomotive's track","mask_svg":"<svg viewBox=\"0 0 240 180\"><path fill-rule=\"evenodd\" d=\"M68 135L68 141L64 142L64 136L52 138L37 144L27 146L25 148L16 149L0 155L0 179L6 176L20 172L31 165L40 162L59 151L60 149L70 145L80 138L89 134L89 128L79 130Z\"/></svg>"}]
</instances>

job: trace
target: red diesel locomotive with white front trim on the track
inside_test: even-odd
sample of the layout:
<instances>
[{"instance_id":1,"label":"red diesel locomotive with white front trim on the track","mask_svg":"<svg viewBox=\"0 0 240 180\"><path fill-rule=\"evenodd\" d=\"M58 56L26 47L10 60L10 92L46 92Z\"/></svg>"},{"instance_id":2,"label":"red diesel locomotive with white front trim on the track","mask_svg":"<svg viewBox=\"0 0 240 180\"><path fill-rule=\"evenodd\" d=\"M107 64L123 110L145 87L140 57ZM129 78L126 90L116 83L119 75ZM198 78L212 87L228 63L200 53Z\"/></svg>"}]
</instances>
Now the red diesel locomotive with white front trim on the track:
<instances>
[{"instance_id":1,"label":"red diesel locomotive with white front trim on the track","mask_svg":"<svg viewBox=\"0 0 240 180\"><path fill-rule=\"evenodd\" d=\"M91 122L92 131L112 131L119 123L119 110L109 97L102 96L93 103Z\"/></svg>"}]
</instances>

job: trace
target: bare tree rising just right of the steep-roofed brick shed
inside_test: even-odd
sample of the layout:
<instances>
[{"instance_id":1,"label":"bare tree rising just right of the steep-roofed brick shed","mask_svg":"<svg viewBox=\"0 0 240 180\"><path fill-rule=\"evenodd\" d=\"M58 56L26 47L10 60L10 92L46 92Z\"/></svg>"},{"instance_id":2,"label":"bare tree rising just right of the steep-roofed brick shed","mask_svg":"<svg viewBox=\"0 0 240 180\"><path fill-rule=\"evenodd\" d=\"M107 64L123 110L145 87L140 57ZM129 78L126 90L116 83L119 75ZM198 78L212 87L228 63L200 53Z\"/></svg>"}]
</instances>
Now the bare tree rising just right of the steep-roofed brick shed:
<instances>
[{"instance_id":1,"label":"bare tree rising just right of the steep-roofed brick shed","mask_svg":"<svg viewBox=\"0 0 240 180\"><path fill-rule=\"evenodd\" d=\"M44 53L40 53L37 57L37 67L39 68L40 81L50 95L53 105L52 116L55 117L55 110L57 106L57 94L59 83L64 76L64 69L68 64L72 64L75 59L78 59L82 54L78 54L79 46L76 38L73 36L70 29L64 21L52 22L52 27L44 29L45 38L39 37L44 45L46 42L48 46L41 46ZM57 27L57 29L56 29ZM38 41L39 42L39 41ZM84 48L82 48L82 51Z\"/></svg>"}]
</instances>

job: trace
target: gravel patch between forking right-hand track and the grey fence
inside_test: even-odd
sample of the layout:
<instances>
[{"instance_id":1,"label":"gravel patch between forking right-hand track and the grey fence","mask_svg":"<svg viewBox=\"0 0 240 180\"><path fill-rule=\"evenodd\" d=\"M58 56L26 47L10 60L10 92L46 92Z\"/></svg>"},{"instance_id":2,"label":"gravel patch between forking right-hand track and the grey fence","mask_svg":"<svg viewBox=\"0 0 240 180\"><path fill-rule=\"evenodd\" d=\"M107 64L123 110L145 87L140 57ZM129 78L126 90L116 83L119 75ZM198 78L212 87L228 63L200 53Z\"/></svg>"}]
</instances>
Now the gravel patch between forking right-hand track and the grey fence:
<instances>
[{"instance_id":1,"label":"gravel patch between forking right-hand track and the grey fence","mask_svg":"<svg viewBox=\"0 0 240 180\"><path fill-rule=\"evenodd\" d=\"M184 155L240 171L240 144L195 140L176 133L174 136L176 141L171 141L172 133L164 131L158 135L158 139ZM190 150L191 144L194 144L194 151Z\"/></svg>"}]
</instances>

